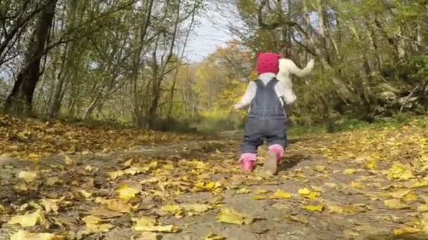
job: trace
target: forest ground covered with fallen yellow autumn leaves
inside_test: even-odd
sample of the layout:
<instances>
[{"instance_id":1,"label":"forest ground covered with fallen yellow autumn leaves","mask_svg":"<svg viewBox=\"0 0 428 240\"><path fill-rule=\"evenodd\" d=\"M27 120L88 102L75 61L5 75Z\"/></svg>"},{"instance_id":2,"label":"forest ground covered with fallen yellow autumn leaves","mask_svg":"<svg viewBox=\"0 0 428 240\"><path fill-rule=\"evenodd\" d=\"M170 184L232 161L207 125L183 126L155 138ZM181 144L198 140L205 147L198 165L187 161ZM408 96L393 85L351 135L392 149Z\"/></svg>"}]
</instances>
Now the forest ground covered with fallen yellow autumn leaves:
<instances>
[{"instance_id":1,"label":"forest ground covered with fallen yellow autumn leaves","mask_svg":"<svg viewBox=\"0 0 428 240\"><path fill-rule=\"evenodd\" d=\"M290 136L277 175L239 132L0 120L0 239L428 239L426 119Z\"/></svg>"}]
</instances>

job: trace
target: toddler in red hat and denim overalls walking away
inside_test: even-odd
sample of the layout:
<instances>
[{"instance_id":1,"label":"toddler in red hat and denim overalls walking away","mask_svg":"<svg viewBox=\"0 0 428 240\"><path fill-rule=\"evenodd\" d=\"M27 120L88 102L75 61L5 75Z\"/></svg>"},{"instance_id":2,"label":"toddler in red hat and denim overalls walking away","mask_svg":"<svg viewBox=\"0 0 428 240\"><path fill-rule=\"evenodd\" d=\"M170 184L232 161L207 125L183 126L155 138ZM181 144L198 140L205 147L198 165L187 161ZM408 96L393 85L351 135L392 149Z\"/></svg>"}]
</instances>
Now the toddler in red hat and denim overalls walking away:
<instances>
[{"instance_id":1,"label":"toddler in red hat and denim overalls walking away","mask_svg":"<svg viewBox=\"0 0 428 240\"><path fill-rule=\"evenodd\" d=\"M256 69L259 79L248 84L241 102L233 106L234 109L241 109L250 105L239 159L242 171L253 171L257 149L266 140L269 152L265 169L275 174L287 147L287 119L283 106L295 98L290 94L292 91L276 78L279 58L281 55L277 53L258 54ZM283 72L286 71L284 68ZM293 71L296 72L296 69Z\"/></svg>"}]
</instances>

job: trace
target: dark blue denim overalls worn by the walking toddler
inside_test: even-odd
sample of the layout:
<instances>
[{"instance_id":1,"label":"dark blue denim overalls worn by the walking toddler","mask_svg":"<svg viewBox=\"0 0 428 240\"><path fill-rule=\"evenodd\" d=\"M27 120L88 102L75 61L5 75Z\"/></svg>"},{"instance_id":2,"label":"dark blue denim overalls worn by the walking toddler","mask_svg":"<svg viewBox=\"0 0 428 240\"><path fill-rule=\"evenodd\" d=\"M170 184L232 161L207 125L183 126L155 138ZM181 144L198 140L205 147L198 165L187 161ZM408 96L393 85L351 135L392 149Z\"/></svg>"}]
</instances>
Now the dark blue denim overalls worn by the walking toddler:
<instances>
[{"instance_id":1,"label":"dark blue denim overalls worn by the walking toddler","mask_svg":"<svg viewBox=\"0 0 428 240\"><path fill-rule=\"evenodd\" d=\"M251 101L245 125L241 153L256 154L266 140L267 145L287 147L287 119L284 107L275 92L278 79L271 79L266 85L258 79L257 92Z\"/></svg>"}]
</instances>

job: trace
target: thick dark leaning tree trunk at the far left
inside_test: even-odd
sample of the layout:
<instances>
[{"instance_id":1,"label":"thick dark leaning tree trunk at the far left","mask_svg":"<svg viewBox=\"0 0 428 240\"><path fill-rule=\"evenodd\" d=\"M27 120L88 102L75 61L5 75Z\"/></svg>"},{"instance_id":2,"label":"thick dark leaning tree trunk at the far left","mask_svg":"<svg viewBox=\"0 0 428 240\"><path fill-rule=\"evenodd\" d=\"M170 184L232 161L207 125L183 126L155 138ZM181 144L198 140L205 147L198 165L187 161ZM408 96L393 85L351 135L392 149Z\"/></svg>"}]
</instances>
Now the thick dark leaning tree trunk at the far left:
<instances>
[{"instance_id":1,"label":"thick dark leaning tree trunk at the far left","mask_svg":"<svg viewBox=\"0 0 428 240\"><path fill-rule=\"evenodd\" d=\"M25 56L12 92L8 95L4 110L12 114L31 114L32 97L41 75L40 62L45 55L46 41L55 15L56 1L46 0L46 7L39 13Z\"/></svg>"}]
</instances>

